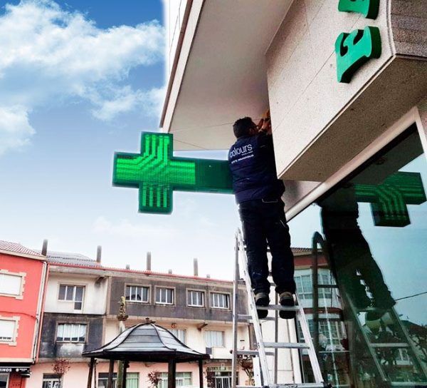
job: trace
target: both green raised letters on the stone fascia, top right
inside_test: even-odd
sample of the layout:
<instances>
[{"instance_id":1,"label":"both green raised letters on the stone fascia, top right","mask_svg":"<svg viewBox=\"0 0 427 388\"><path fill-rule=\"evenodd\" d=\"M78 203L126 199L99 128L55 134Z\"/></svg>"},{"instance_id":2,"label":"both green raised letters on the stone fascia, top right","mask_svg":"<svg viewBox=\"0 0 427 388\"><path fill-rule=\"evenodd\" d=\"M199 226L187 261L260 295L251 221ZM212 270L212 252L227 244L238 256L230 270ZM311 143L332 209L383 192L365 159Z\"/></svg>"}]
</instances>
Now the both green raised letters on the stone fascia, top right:
<instances>
[{"instance_id":1,"label":"both green raised letters on the stone fascia, top right","mask_svg":"<svg viewBox=\"0 0 427 388\"><path fill-rule=\"evenodd\" d=\"M365 18L376 19L379 0L339 0L338 11L358 12ZM378 27L367 26L351 33L342 33L335 41L338 82L349 83L352 76L371 58L381 56L381 36Z\"/></svg>"}]
</instances>

